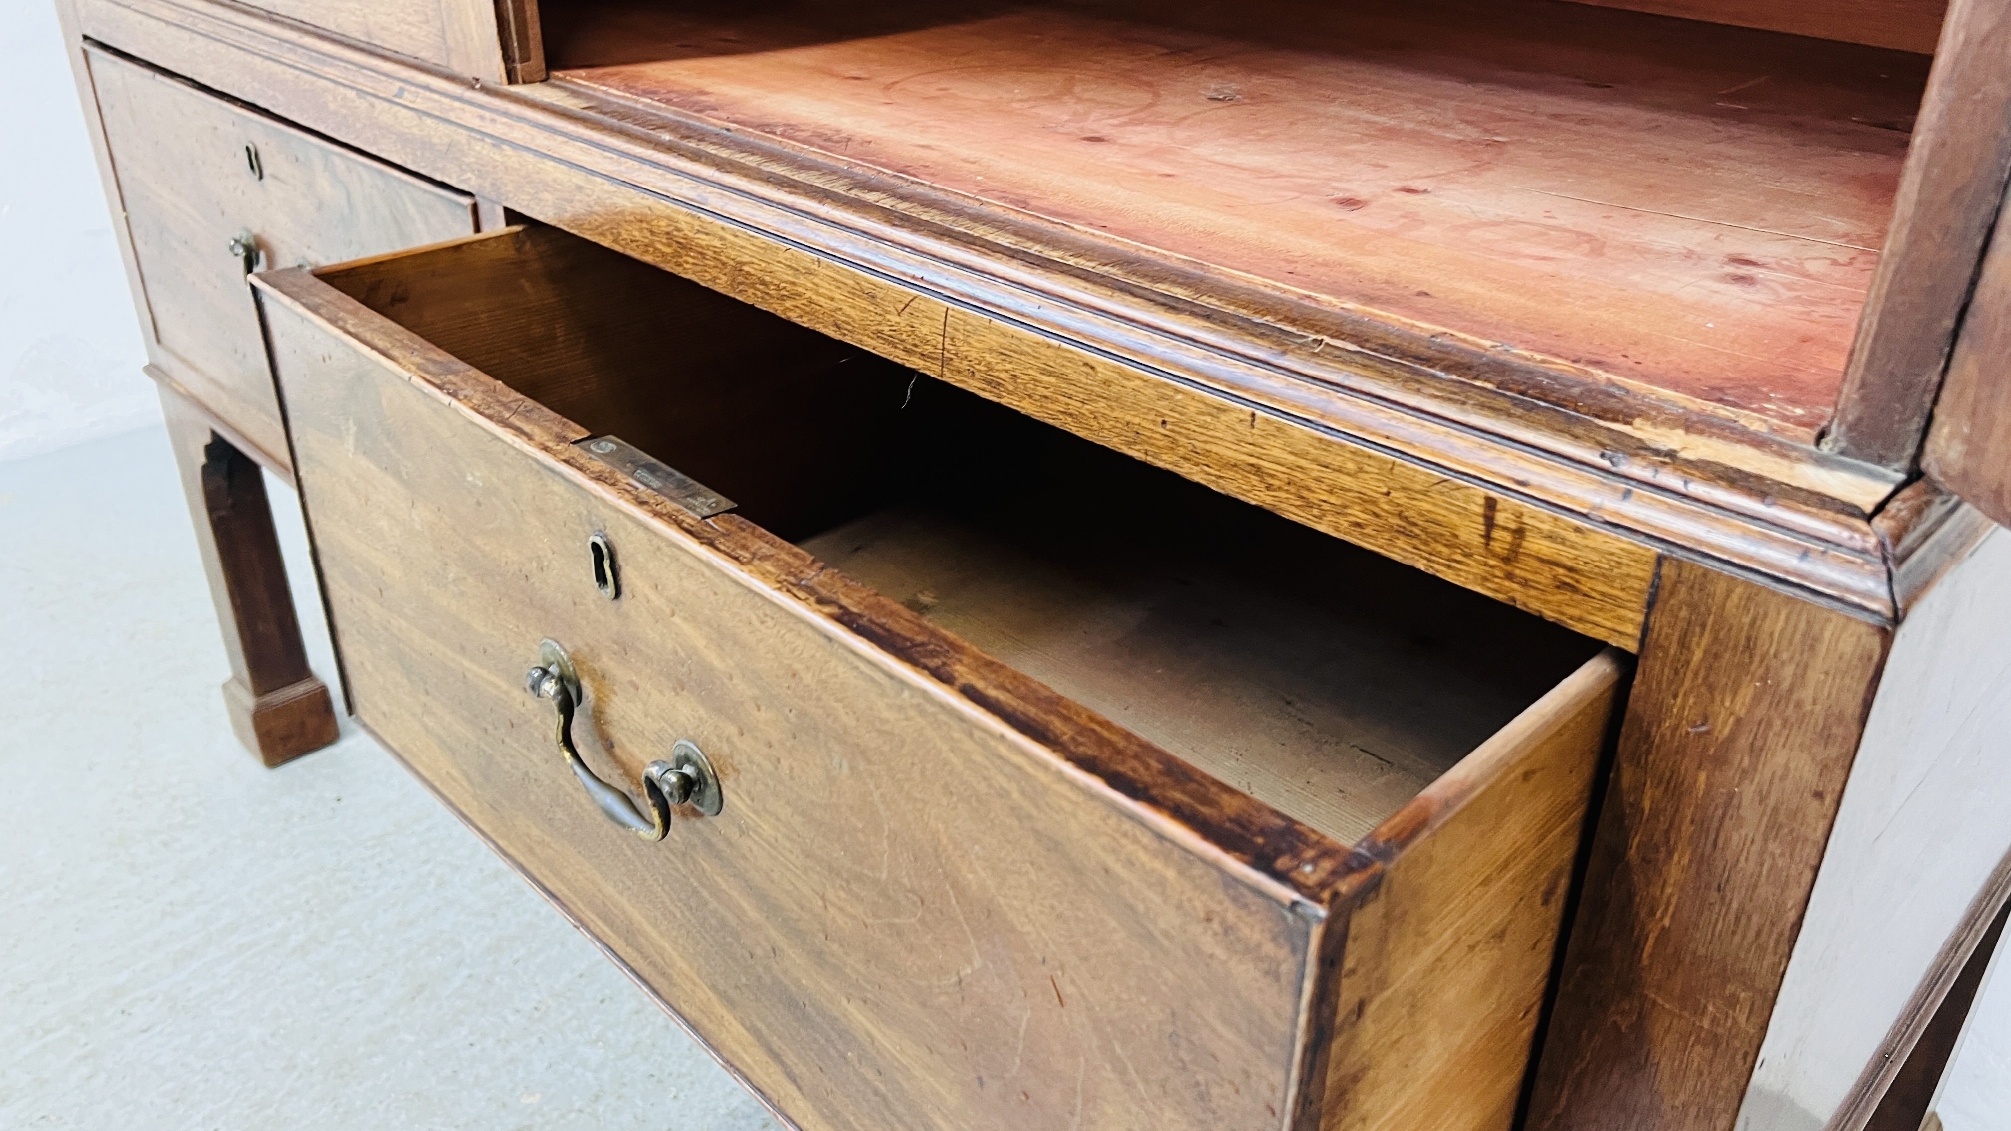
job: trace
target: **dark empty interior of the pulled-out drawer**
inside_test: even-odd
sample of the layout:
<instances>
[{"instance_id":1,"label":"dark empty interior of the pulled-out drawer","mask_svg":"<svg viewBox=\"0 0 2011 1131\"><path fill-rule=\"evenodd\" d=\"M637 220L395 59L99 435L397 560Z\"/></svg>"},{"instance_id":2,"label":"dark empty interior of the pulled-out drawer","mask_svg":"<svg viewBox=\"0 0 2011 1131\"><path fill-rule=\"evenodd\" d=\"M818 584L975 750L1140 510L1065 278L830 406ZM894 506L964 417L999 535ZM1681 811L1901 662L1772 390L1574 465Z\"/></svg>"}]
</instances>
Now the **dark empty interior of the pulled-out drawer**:
<instances>
[{"instance_id":1,"label":"dark empty interior of the pulled-out drawer","mask_svg":"<svg viewBox=\"0 0 2011 1131\"><path fill-rule=\"evenodd\" d=\"M1599 650L553 229L322 278L1343 843Z\"/></svg>"}]
</instances>

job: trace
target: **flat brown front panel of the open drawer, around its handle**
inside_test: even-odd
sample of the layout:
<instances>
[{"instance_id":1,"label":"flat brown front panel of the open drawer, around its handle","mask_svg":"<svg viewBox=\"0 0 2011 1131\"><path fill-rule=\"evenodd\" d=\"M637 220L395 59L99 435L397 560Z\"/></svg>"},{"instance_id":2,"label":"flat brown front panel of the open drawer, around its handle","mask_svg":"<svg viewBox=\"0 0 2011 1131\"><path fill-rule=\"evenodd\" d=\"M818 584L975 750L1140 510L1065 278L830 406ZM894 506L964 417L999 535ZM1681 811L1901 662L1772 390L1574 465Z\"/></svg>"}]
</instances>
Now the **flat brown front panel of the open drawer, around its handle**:
<instances>
[{"instance_id":1,"label":"flat brown front panel of the open drawer, around its handle","mask_svg":"<svg viewBox=\"0 0 2011 1131\"><path fill-rule=\"evenodd\" d=\"M263 294L360 718L780 1111L1291 1119L1315 908L563 463L565 421ZM525 692L541 638L601 777L692 739L724 811L660 843L605 821Z\"/></svg>"}]
</instances>

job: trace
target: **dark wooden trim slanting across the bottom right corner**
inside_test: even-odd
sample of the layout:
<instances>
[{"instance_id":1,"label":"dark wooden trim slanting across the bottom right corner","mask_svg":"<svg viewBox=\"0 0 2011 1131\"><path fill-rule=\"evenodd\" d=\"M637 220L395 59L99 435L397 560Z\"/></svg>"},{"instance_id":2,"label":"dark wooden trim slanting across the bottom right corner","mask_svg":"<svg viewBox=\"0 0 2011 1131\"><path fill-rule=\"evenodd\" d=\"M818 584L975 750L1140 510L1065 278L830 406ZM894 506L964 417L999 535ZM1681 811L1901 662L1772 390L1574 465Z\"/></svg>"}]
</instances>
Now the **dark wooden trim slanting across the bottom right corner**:
<instances>
[{"instance_id":1,"label":"dark wooden trim slanting across the bottom right corner","mask_svg":"<svg viewBox=\"0 0 2011 1131\"><path fill-rule=\"evenodd\" d=\"M1916 1131L1955 1053L1963 1020L2011 912L2011 853L1969 902L1963 922L1906 998L1844 1105L1822 1131Z\"/></svg>"}]
</instances>

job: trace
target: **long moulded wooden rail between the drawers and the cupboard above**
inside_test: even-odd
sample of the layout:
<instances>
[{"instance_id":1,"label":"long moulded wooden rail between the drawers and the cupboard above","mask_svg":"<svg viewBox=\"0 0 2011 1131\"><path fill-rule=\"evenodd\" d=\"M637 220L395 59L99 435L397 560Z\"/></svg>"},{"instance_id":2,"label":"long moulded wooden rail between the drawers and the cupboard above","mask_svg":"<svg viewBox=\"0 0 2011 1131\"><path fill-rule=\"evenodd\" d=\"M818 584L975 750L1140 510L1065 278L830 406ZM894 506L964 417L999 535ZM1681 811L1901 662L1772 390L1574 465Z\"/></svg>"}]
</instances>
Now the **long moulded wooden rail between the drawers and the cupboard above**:
<instances>
[{"instance_id":1,"label":"long moulded wooden rail between the drawers and the cupboard above","mask_svg":"<svg viewBox=\"0 0 2011 1131\"><path fill-rule=\"evenodd\" d=\"M1605 384L1571 398L1587 415L1540 409L1540 388L1506 392L1528 372L1514 358L1458 360L1088 244L1062 254L1052 231L577 85L471 89L177 0L82 4L93 36L1591 636L1639 638L1669 543L1892 612L1864 521L1890 473L1699 431ZM1182 435L1154 435L1162 419ZM1490 507L1496 531L1532 517L1518 561L1492 553ZM1530 553L1548 541L1563 553Z\"/></svg>"}]
</instances>

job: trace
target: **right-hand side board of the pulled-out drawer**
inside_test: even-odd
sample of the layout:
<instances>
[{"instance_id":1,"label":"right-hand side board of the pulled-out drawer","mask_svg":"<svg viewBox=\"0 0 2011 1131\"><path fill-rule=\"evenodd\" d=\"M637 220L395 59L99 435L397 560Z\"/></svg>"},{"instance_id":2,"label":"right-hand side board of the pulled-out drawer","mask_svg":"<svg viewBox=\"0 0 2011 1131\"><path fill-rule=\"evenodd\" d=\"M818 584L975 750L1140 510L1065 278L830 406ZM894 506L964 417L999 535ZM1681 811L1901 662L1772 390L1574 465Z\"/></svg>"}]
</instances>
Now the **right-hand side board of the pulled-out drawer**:
<instances>
[{"instance_id":1,"label":"right-hand side board of the pulled-out drawer","mask_svg":"<svg viewBox=\"0 0 2011 1131\"><path fill-rule=\"evenodd\" d=\"M1420 799L1347 924L1327 1131L1508 1131L1621 672L1593 658Z\"/></svg>"}]
</instances>

